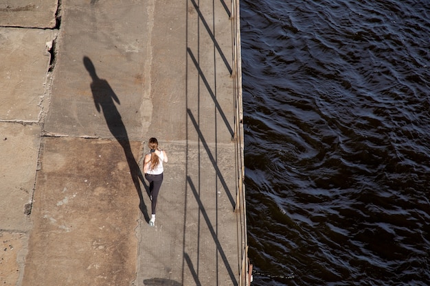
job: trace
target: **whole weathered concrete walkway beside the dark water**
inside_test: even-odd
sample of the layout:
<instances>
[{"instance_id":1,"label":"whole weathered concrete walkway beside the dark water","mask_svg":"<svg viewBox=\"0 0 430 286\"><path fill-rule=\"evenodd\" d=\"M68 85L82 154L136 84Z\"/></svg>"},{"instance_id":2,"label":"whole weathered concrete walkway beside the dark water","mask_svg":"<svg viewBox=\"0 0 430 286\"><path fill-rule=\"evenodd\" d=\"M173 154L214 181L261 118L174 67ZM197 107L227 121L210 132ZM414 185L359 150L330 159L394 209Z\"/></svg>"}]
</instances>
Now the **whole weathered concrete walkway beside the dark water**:
<instances>
[{"instance_id":1,"label":"whole weathered concrete walkway beside the dark water","mask_svg":"<svg viewBox=\"0 0 430 286\"><path fill-rule=\"evenodd\" d=\"M238 285L221 1L0 3L0 284ZM147 141L166 150L148 225Z\"/></svg>"}]
</instances>

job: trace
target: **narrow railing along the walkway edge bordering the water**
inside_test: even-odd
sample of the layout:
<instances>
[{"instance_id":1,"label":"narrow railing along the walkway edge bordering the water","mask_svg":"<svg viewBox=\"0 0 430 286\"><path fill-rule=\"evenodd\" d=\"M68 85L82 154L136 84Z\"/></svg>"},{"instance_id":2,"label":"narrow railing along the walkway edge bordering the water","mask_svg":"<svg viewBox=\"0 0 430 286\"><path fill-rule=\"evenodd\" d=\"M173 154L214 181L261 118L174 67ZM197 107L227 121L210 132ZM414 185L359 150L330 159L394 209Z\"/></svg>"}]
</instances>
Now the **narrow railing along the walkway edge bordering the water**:
<instances>
[{"instance_id":1,"label":"narrow railing along the walkway edge bordering the water","mask_svg":"<svg viewBox=\"0 0 430 286\"><path fill-rule=\"evenodd\" d=\"M245 163L244 163L244 133L242 109L242 57L240 53L240 5L239 0L231 0L231 40L233 69L231 76L234 83L234 142L236 149L236 180L238 191L236 193L236 213L240 217L240 272L239 285L251 284L252 265L248 259L247 239L247 208L245 200Z\"/></svg>"}]
</instances>

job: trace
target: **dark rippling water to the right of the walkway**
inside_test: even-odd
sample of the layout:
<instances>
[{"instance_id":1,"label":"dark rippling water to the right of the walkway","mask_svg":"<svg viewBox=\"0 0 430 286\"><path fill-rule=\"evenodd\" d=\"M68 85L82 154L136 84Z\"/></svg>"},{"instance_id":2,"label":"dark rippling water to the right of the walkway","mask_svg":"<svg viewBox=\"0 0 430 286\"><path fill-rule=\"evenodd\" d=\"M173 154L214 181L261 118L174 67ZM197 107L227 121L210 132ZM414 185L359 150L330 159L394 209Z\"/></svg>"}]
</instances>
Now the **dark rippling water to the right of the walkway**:
<instances>
[{"instance_id":1,"label":"dark rippling water to the right of the walkway","mask_svg":"<svg viewBox=\"0 0 430 286\"><path fill-rule=\"evenodd\" d=\"M430 1L240 5L253 285L430 285Z\"/></svg>"}]
</instances>

